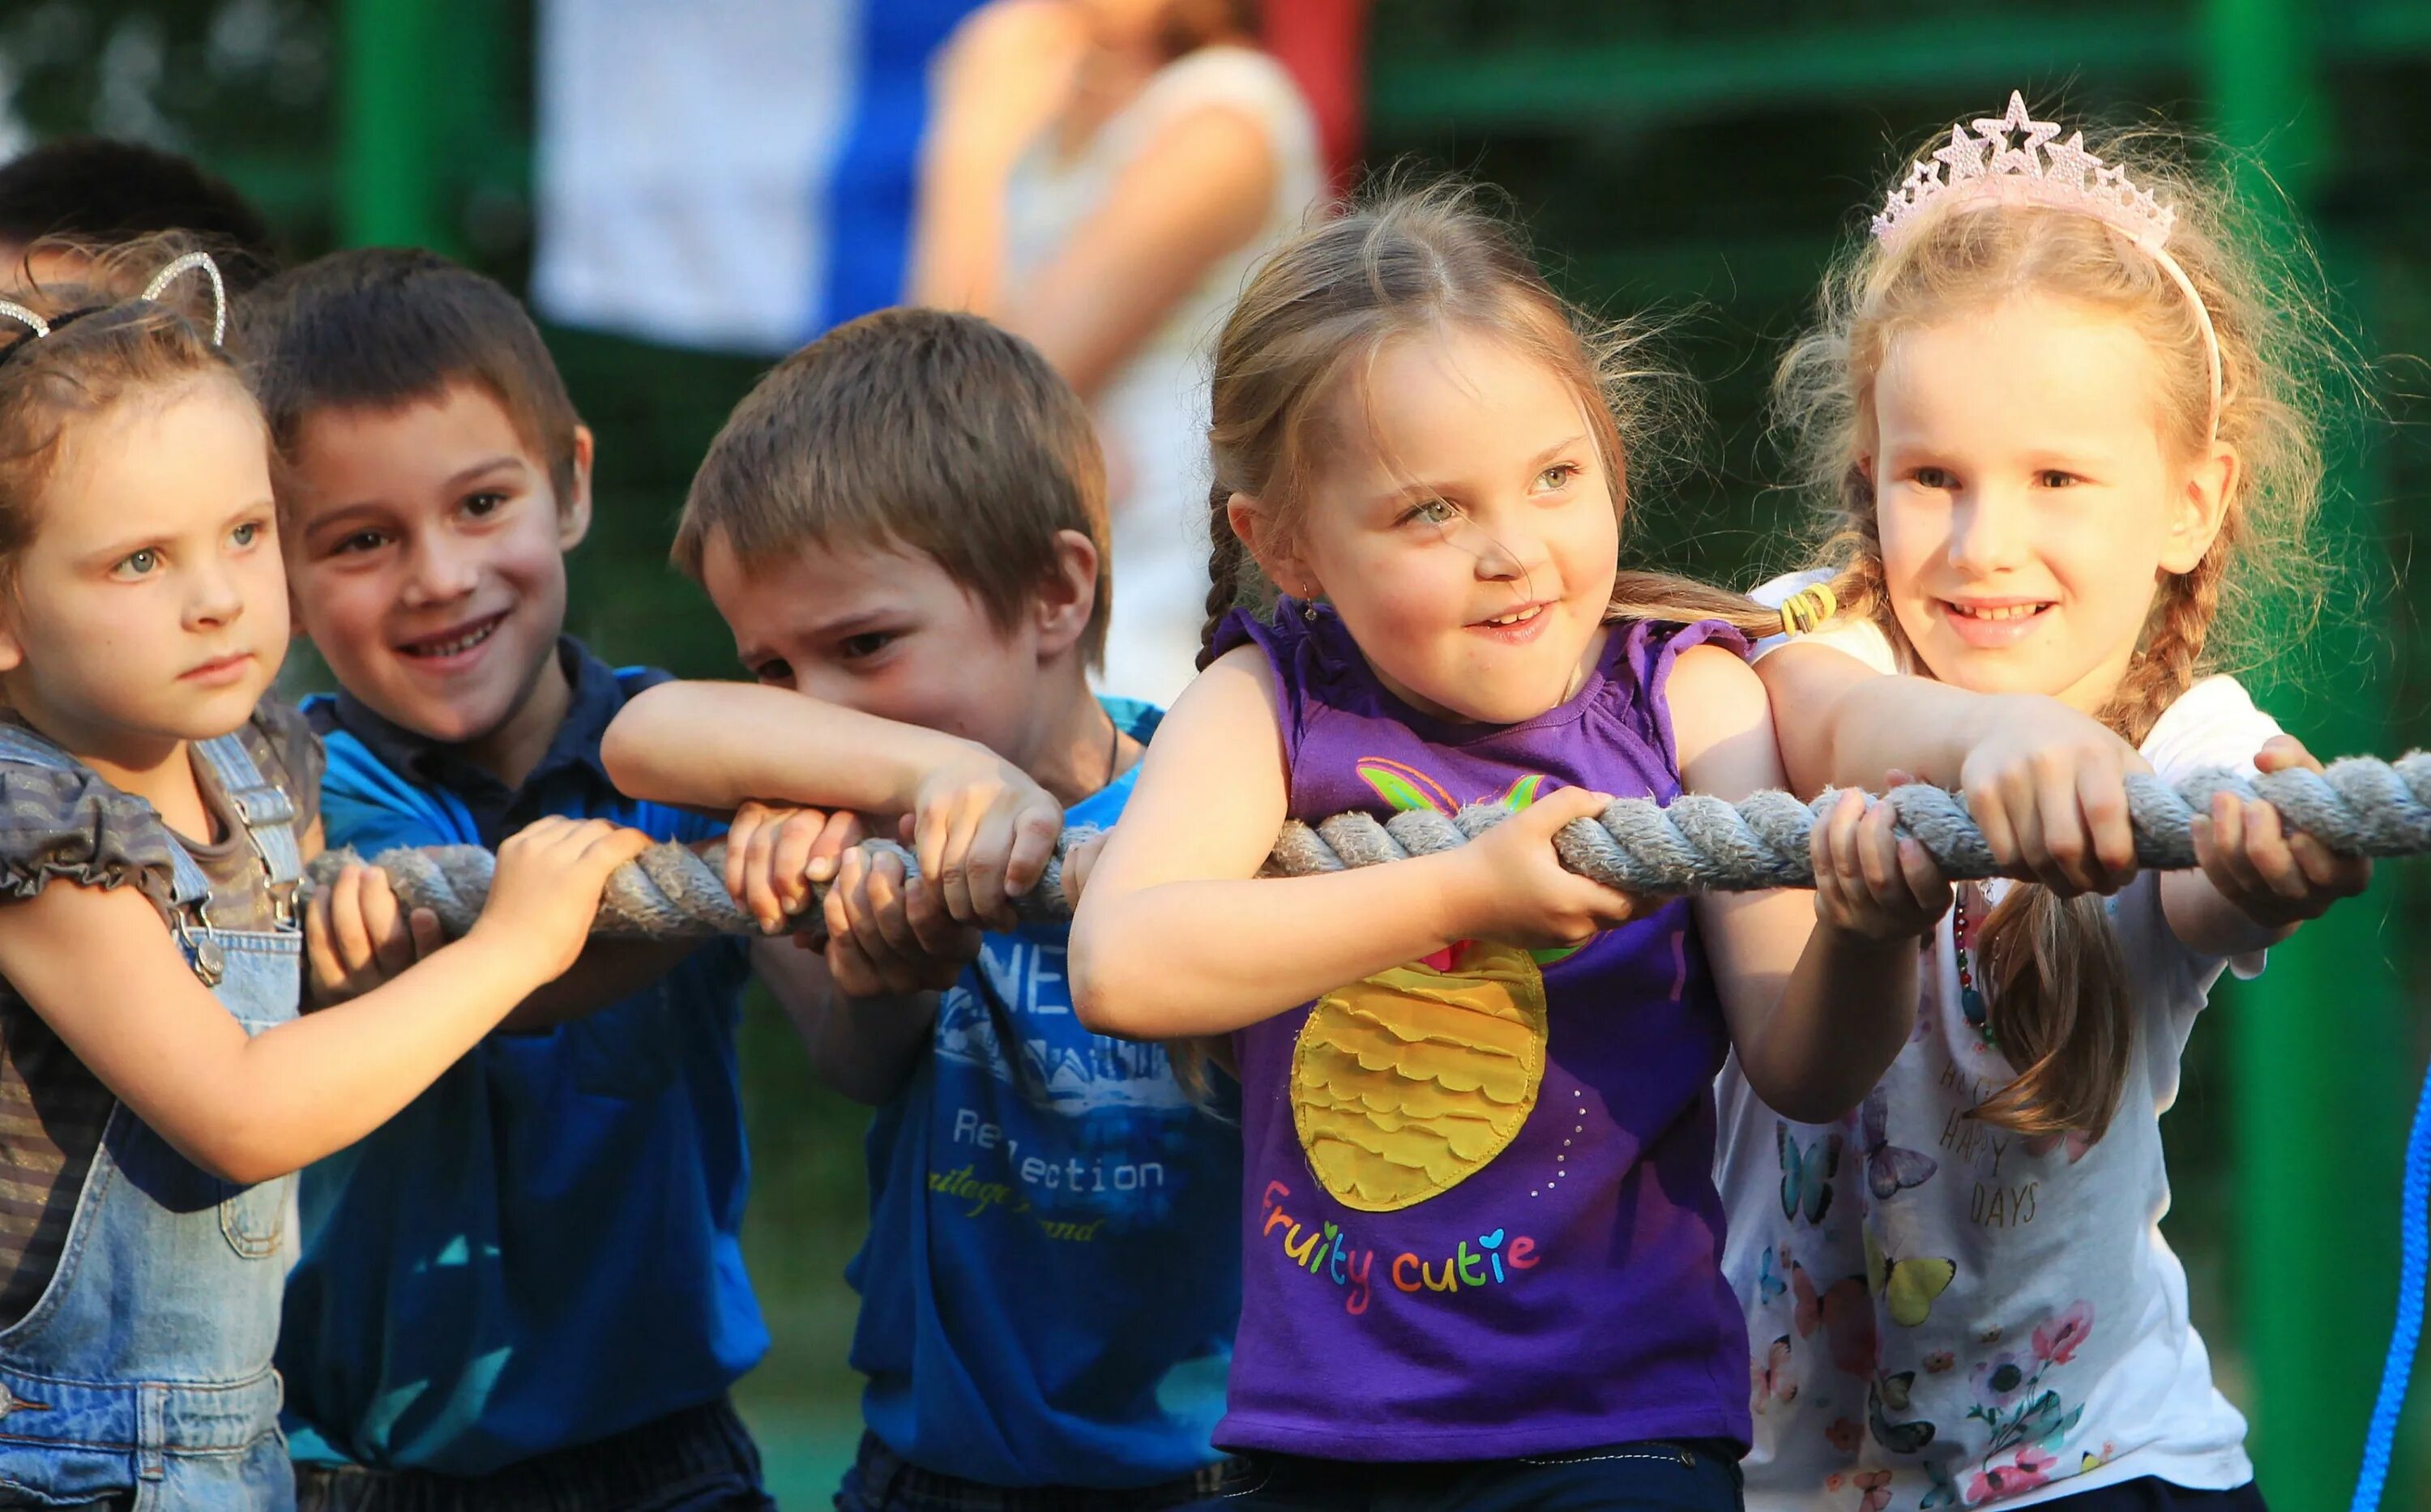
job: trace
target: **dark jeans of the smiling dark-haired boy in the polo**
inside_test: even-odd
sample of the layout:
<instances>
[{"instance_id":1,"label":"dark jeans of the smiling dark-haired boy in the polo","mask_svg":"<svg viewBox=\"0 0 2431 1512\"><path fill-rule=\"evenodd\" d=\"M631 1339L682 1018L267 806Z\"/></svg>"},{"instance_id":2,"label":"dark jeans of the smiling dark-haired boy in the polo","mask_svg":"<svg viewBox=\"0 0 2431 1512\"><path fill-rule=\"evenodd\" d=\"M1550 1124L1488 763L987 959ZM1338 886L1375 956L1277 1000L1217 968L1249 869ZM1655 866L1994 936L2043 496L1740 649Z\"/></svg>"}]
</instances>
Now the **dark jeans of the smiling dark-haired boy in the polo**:
<instances>
[{"instance_id":1,"label":"dark jeans of the smiling dark-haired boy in the polo","mask_svg":"<svg viewBox=\"0 0 2431 1512\"><path fill-rule=\"evenodd\" d=\"M297 1466L297 1512L775 1512L720 1398L491 1476Z\"/></svg>"}]
</instances>

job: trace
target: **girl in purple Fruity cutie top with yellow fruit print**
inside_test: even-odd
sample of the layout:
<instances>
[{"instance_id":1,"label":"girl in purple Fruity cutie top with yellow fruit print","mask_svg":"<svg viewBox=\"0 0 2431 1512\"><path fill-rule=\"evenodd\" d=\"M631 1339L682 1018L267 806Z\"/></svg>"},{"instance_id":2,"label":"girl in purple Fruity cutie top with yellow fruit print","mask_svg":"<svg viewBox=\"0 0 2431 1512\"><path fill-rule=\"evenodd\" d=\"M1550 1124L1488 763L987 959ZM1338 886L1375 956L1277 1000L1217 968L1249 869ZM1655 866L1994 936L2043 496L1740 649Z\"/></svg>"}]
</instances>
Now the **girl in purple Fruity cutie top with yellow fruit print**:
<instances>
[{"instance_id":1,"label":"girl in purple Fruity cutie top with yellow fruit print","mask_svg":"<svg viewBox=\"0 0 2431 1512\"><path fill-rule=\"evenodd\" d=\"M1930 914L1553 856L1607 795L1782 783L1738 627L1770 617L1617 571L1643 406L1600 345L1446 192L1301 233L1223 331L1220 625L1070 965L1092 1028L1230 1036L1240 1505L1736 1507L1714 1072L1833 1118L1906 1040ZM1286 817L1480 800L1515 814L1456 851L1257 878ZM1920 861L1855 800L1816 834L1826 875Z\"/></svg>"}]
</instances>

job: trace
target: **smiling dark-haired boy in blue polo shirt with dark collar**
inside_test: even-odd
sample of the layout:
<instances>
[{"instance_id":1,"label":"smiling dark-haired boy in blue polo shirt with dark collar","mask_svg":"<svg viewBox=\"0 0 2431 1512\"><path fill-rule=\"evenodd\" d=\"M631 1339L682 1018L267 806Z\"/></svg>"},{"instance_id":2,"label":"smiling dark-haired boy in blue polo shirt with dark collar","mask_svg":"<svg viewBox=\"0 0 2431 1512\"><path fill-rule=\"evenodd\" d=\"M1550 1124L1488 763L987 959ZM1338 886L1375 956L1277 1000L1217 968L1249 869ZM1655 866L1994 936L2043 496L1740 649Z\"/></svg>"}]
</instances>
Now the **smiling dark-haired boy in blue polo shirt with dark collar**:
<instances>
[{"instance_id":1,"label":"smiling dark-haired boy in blue polo shirt with dark collar","mask_svg":"<svg viewBox=\"0 0 2431 1512\"><path fill-rule=\"evenodd\" d=\"M591 433L520 304L430 253L355 250L246 309L297 625L340 683L331 846L496 841L540 814L659 839L600 734L664 673L562 634ZM323 999L413 955L379 873L314 909ZM377 941L377 950L370 943ZM304 1172L287 1286L311 1510L756 1510L727 1388L768 1347L737 1230L734 1023L749 958L593 943L401 1116Z\"/></svg>"}]
</instances>

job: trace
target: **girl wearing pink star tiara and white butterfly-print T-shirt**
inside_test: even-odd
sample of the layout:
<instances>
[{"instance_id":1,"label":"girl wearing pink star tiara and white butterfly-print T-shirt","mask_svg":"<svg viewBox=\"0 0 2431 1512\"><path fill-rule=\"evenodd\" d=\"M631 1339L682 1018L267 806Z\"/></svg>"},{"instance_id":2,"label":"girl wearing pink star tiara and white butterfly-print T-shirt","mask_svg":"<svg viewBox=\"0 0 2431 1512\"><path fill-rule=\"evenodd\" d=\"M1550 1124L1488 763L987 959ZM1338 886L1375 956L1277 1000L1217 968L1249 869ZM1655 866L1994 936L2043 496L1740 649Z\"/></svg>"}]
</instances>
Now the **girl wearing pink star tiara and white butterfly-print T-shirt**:
<instances>
[{"instance_id":1,"label":"girl wearing pink star tiara and white butterfly-print T-shirt","mask_svg":"<svg viewBox=\"0 0 2431 1512\"><path fill-rule=\"evenodd\" d=\"M1835 566L1760 593L1811 630L1760 671L1784 707L1843 693L1784 724L1792 778L1896 766L1996 812L1998 785L1928 737L1957 690L2049 695L2117 739L2061 729L2010 768L2083 812L2066 844L1993 836L2059 887L1848 882L1942 914L1913 1033L1852 1118L1777 1113L1724 1074L1750 1507L2261 1507L2159 1232L2159 1118L2222 967L2261 970L2370 868L2222 797L2202 870L2120 890L2117 783L2312 761L2210 671L2246 586L2305 562L2322 484L2300 374L2326 348L2309 306L2263 297L2232 209L2010 95L1911 170L1782 362ZM2117 892L2061 897L2088 890Z\"/></svg>"}]
</instances>

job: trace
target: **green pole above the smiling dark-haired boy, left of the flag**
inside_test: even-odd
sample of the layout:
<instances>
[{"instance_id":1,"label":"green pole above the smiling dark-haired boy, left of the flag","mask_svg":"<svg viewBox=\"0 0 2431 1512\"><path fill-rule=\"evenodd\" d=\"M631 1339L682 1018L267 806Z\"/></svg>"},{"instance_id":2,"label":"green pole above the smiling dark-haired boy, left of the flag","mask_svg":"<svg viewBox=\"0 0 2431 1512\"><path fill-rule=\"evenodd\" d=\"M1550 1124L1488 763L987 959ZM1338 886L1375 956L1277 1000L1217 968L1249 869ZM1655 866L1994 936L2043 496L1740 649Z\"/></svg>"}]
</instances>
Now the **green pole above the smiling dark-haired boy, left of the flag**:
<instances>
[{"instance_id":1,"label":"green pole above the smiling dark-haired boy, left of the flag","mask_svg":"<svg viewBox=\"0 0 2431 1512\"><path fill-rule=\"evenodd\" d=\"M338 233L455 253L440 209L445 7L343 0Z\"/></svg>"}]
</instances>

